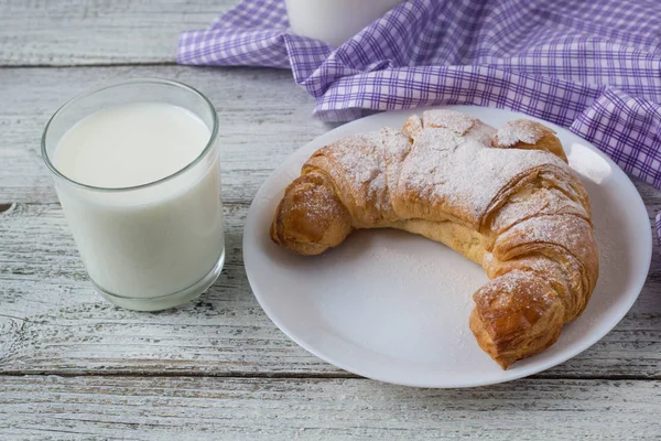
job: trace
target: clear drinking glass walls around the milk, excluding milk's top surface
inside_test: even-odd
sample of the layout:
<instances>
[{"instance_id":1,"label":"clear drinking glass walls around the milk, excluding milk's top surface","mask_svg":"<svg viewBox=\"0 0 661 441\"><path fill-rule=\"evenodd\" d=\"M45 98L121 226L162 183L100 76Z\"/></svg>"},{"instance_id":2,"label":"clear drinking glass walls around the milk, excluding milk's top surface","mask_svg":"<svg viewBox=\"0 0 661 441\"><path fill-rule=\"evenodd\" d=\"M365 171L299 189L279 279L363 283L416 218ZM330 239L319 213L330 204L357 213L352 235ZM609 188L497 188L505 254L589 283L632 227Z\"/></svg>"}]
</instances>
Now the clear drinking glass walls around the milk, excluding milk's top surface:
<instances>
[{"instance_id":1,"label":"clear drinking glass walls around the milk, excluding milk's top surface","mask_svg":"<svg viewBox=\"0 0 661 441\"><path fill-rule=\"evenodd\" d=\"M131 187L86 185L57 169L54 152L68 129L97 110L139 103L165 103L197 116L210 131L204 150L175 173ZM220 275L225 238L217 141L212 103L167 79L130 79L91 90L51 118L42 155L89 278L108 301L163 310L198 297Z\"/></svg>"}]
</instances>

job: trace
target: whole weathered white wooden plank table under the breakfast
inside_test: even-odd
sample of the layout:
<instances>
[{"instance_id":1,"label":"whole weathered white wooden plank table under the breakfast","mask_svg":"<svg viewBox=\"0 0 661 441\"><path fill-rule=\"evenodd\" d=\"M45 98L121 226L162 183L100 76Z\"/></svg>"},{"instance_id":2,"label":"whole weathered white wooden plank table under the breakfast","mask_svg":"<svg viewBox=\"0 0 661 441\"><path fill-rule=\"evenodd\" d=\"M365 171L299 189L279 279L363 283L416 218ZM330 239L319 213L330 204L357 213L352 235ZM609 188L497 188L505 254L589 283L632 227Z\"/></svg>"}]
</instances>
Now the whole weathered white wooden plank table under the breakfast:
<instances>
[{"instance_id":1,"label":"whole weathered white wooden plank table under the breakfast","mask_svg":"<svg viewBox=\"0 0 661 441\"><path fill-rule=\"evenodd\" d=\"M241 233L256 191L328 130L286 71L177 66L180 31L232 0L0 0L0 439L653 439L661 435L661 260L622 322L533 377L463 390L364 379L291 342L252 297ZM228 259L199 300L121 310L85 273L40 155L73 95L161 76L223 123ZM661 192L637 184L650 218ZM657 438L658 439L658 438Z\"/></svg>"}]
</instances>

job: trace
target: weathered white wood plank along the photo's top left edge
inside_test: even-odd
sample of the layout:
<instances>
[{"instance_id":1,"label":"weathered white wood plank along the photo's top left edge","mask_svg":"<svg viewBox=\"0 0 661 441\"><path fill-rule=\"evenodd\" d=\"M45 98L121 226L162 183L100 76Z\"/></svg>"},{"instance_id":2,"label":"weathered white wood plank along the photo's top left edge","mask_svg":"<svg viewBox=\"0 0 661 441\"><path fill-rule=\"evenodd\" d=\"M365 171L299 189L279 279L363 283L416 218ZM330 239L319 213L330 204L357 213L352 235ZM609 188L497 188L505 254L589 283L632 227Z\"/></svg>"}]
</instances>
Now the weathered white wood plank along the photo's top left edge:
<instances>
[{"instance_id":1,"label":"weathered white wood plank along the photo's top left edge","mask_svg":"<svg viewBox=\"0 0 661 441\"><path fill-rule=\"evenodd\" d=\"M1 65L174 63L178 34L238 0L0 0Z\"/></svg>"}]
</instances>

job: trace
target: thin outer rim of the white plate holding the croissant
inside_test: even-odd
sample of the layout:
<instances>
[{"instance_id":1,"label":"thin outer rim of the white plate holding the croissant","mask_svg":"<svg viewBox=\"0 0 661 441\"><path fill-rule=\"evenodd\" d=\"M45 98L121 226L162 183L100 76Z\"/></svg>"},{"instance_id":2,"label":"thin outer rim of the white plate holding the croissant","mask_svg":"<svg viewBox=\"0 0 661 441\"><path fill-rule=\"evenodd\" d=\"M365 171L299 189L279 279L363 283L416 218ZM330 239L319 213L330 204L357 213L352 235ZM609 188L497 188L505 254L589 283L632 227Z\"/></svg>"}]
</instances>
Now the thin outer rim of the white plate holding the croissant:
<instances>
[{"instance_id":1,"label":"thin outer rim of the white plate holding the croissant","mask_svg":"<svg viewBox=\"0 0 661 441\"><path fill-rule=\"evenodd\" d=\"M373 373L361 372L362 369L360 369L360 368L356 368L355 366L349 366L348 364L345 364L342 361L334 359L332 356L326 355L323 351L318 351L315 347L313 347L312 345L310 345L306 342L304 342L303 340L301 340L297 335L295 335L295 333L293 333L289 329L289 326L286 324L282 323L282 321L278 318L278 314L275 314L271 310L271 308L268 305L268 303L264 301L263 294L261 294L259 292L259 289L257 289L252 282L254 276L253 276L252 270L249 268L250 267L250 263L249 263L250 258L248 257L249 255L251 255L252 251L250 250L249 247L248 248L246 247L247 240L249 240L246 232L249 230L249 228L248 228L249 225L252 225L254 222L257 222L256 212L258 209L258 206L257 206L258 204L256 203L256 201L263 200L263 197L260 197L260 196L262 196L263 193L267 193L271 181L273 181L278 175L280 175L284 170L286 170L286 168L291 166L290 162L294 161L297 155L301 155L302 154L301 152L303 150L307 149L311 143L319 142L319 139L325 139L325 138L338 139L339 137L347 135L344 132L350 132L355 126L365 123L364 122L365 120L378 119L383 114L413 115L413 114L420 114L424 110L430 110L430 109L458 109L460 111L460 109L466 109L466 108L487 108L489 110L497 111L497 112L506 111L508 114L512 114L512 116L519 116L522 118L540 121L540 122L551 127L554 130L566 131L566 132L571 133L572 136L579 138L581 140L583 140L586 143L586 146L592 151L597 153L602 159L606 160L611 168L617 169L619 172L621 172L622 176L625 178L626 185L629 186L629 190L632 190L637 196L636 202L635 202L636 208L633 209L633 212L638 213L636 215L636 217L638 217L640 214L644 213L644 218L649 225L649 216L647 214L647 206L644 205L644 202L642 201L642 196L640 195L640 192L638 192L638 189L636 189L636 185L633 184L633 182L631 181L629 175L619 165L617 165L615 163L615 161L613 161L610 158L608 158L603 151L600 151L598 148L596 148L592 142L585 140L584 138L579 137L578 135L571 132L568 129L566 129L564 127L561 127L556 123L553 123L553 122L550 122L546 120L543 120L541 118L532 117L532 116L521 114L518 111L513 111L513 110L509 110L509 109L502 109L502 108L489 107L489 106L438 105L438 106L425 106L425 107L413 108L413 109L382 111L382 112L378 112L378 114L370 115L370 116L367 116L364 118L359 118L354 121L349 121L345 125L335 127L335 128L311 139L308 142L306 142L305 144L303 144L302 147L300 147L299 149L293 151L291 154L289 154L262 182L262 184L260 185L259 190L257 191L257 193L254 194L254 196L250 203L250 207L249 207L248 214L246 216L246 223L243 224L243 232L242 232L242 239L241 239L243 267L245 267L246 275L248 278L248 283L250 284L250 289L252 291L252 295L257 299L260 308L264 311L264 313L267 314L269 320L271 320L271 322L273 324L275 324L275 326L278 326L278 329L280 329L280 331L282 331L290 340L292 340L294 343L296 343L299 346L303 347L305 351L307 351L312 355L321 358L322 361L330 364L332 366L344 369L350 374L359 375L359 376L362 376L362 377L366 377L369 379L373 379L373 380L378 380L378 381L382 381L382 383L387 383L387 384L393 384L393 385L401 385L401 386L409 386L409 387L422 387L422 388L438 388L438 389L468 388L468 387L496 385L496 384L501 384L501 383L513 381L516 379L520 379L520 378L529 377L531 375L539 374L539 373L550 369L554 366L566 363L570 359L582 354L583 352L587 351L593 345L595 345L597 342L599 342L602 338L604 338L607 334L609 334L622 321L622 319L629 313L629 311L631 310L631 308L633 306L633 304L640 297L640 293L642 292L642 288L644 287L647 278L649 276L649 270L651 268L651 259L652 259L652 250L653 250L653 246L652 246L653 236L652 236L651 226L649 226L649 230L648 230L649 234L644 235L646 236L644 250L640 251L640 252L644 252L644 255L646 255L644 261L647 262L647 265L646 265L646 268L643 271L644 277L641 277L640 280L638 280L636 282L636 284L635 284L635 291L637 292L636 295L631 295L631 299L625 304L625 306L619 309L619 313L615 314L615 316L609 321L608 325L605 326L606 331L597 332L590 338L581 340L581 342L578 342L578 344L576 344L576 347L573 347L573 348L566 351L565 353L563 353L563 355L560 356L559 359L551 358L551 359L546 361L545 363L542 363L541 366L538 365L538 366L534 366L533 368L522 369L519 373L516 373L507 378L501 378L501 379L496 379L496 380L487 380L487 381L484 381L484 380L480 381L479 379L475 379L475 380L459 380L459 381L455 380L452 384L438 384L438 383L425 383L425 381L414 381L414 380L393 380L391 378L384 378L384 377L381 377L380 375L373 375ZM322 141L322 142L332 142L332 141ZM283 190L284 189L282 189L281 191L283 191Z\"/></svg>"}]
</instances>

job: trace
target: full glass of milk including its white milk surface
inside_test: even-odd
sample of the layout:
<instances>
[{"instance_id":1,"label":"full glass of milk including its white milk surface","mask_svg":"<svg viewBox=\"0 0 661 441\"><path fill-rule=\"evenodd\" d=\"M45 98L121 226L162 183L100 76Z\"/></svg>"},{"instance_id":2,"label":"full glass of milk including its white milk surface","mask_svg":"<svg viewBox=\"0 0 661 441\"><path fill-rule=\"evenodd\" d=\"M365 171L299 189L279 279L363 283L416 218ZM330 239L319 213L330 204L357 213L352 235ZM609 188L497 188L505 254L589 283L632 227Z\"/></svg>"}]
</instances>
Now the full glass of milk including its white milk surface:
<instances>
[{"instance_id":1,"label":"full glass of milk including its white milk surface","mask_svg":"<svg viewBox=\"0 0 661 441\"><path fill-rule=\"evenodd\" d=\"M199 92L131 79L48 121L42 155L91 282L156 311L206 291L225 260L218 117Z\"/></svg>"}]
</instances>

